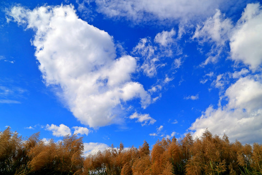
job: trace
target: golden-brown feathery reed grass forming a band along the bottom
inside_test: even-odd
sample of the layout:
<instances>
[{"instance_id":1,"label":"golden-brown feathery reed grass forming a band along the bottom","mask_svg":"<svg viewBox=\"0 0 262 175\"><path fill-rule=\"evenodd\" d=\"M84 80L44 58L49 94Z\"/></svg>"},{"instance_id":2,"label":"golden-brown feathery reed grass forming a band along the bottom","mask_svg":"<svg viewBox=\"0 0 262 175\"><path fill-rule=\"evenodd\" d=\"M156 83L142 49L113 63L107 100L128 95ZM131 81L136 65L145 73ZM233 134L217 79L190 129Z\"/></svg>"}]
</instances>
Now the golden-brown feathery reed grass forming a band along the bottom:
<instances>
[{"instance_id":1,"label":"golden-brown feathery reed grass forming a band along the bottom","mask_svg":"<svg viewBox=\"0 0 262 175\"><path fill-rule=\"evenodd\" d=\"M83 157L82 138L60 142L39 140L39 133L22 140L8 127L0 132L1 175L262 175L262 145L229 142L206 130L202 137L158 140L149 150L113 145Z\"/></svg>"}]
</instances>

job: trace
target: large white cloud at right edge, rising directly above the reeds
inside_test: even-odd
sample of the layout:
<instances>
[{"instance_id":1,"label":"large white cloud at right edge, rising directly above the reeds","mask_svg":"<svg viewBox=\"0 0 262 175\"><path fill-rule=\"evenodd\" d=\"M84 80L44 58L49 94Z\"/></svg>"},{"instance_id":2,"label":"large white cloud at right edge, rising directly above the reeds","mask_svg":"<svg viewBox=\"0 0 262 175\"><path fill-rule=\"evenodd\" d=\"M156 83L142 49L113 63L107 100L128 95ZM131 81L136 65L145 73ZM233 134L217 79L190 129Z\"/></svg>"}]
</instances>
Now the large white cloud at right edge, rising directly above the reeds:
<instances>
[{"instance_id":1,"label":"large white cloud at right edge, rising directly above the reeds","mask_svg":"<svg viewBox=\"0 0 262 175\"><path fill-rule=\"evenodd\" d=\"M213 134L226 133L231 141L243 143L262 140L262 82L252 77L240 78L225 92L228 104L210 106L189 128L201 136L208 128Z\"/></svg>"}]
</instances>

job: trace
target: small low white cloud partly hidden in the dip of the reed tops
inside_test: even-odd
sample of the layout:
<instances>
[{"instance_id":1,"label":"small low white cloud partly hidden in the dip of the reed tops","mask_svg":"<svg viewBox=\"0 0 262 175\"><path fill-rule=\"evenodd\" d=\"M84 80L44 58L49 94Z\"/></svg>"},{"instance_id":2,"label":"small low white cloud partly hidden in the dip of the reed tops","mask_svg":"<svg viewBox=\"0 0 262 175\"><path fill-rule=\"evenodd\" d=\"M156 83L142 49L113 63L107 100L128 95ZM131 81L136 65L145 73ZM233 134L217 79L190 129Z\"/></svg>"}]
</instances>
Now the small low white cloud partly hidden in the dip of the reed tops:
<instances>
[{"instance_id":1,"label":"small low white cloud partly hidden in the dip of the reed tops","mask_svg":"<svg viewBox=\"0 0 262 175\"><path fill-rule=\"evenodd\" d=\"M84 143L84 155L88 156L89 154L95 154L98 151L104 151L109 146L105 143L98 143L98 142L89 142Z\"/></svg>"}]
</instances>

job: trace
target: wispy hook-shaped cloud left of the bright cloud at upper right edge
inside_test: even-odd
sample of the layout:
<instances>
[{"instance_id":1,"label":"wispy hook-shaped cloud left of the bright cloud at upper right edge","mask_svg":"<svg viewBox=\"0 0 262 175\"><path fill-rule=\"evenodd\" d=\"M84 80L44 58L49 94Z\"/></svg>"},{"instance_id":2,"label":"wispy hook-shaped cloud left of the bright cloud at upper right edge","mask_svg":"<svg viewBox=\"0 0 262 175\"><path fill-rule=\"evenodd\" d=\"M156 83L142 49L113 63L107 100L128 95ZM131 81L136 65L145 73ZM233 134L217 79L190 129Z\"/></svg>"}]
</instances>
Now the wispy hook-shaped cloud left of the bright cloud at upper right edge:
<instances>
[{"instance_id":1,"label":"wispy hook-shaped cloud left of the bright cloud at upper right edge","mask_svg":"<svg viewBox=\"0 0 262 175\"><path fill-rule=\"evenodd\" d=\"M202 43L212 43L212 49L207 53L208 58L201 64L205 66L209 63L216 63L217 59L222 53L226 41L232 29L232 21L225 18L220 10L216 10L213 17L208 18L202 25L197 25L197 29L192 39Z\"/></svg>"}]
</instances>

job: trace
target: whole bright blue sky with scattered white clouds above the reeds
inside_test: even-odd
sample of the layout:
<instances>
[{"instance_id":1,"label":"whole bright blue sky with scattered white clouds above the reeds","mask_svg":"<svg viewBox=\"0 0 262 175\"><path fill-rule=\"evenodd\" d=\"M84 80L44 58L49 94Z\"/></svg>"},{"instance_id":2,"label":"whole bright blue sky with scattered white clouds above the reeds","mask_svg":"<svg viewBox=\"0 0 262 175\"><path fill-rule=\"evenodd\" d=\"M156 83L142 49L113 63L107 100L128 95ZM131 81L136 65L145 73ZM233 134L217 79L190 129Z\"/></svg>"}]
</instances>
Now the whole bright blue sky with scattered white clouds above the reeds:
<instances>
[{"instance_id":1,"label":"whole bright blue sky with scattered white clouds above the reeds","mask_svg":"<svg viewBox=\"0 0 262 175\"><path fill-rule=\"evenodd\" d=\"M236 3L237 2L237 3ZM262 140L262 6L226 0L0 3L0 128L107 145Z\"/></svg>"}]
</instances>

